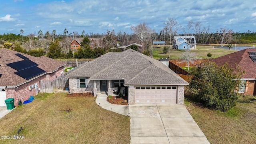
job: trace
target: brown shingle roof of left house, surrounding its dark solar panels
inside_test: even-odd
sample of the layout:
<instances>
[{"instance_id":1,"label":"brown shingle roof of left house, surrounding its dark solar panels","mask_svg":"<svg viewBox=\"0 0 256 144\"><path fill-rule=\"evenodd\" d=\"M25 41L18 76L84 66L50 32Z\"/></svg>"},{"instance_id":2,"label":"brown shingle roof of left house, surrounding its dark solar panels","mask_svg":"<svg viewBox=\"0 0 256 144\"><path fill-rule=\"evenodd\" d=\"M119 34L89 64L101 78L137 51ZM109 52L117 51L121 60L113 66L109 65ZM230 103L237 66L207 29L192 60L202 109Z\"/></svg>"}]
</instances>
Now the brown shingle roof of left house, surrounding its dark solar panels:
<instances>
[{"instance_id":1,"label":"brown shingle roof of left house, surrounding its dark solar panels","mask_svg":"<svg viewBox=\"0 0 256 144\"><path fill-rule=\"evenodd\" d=\"M23 56L29 58L31 61L35 62L38 64L38 68L41 68L42 70L45 70L45 73L52 73L61 66L64 66L65 63L54 60L52 58L48 58L46 56L41 56L39 58L30 56L28 54L23 54L21 52L16 52L14 50L9 50L6 48L0 48L0 74L3 74L2 77L0 78L0 86L17 86L19 84L22 84L26 80L16 74L14 72L17 72L13 68L7 66L6 64L12 63L12 62L18 62L21 60L24 60L15 54L22 54Z\"/></svg>"}]
</instances>

